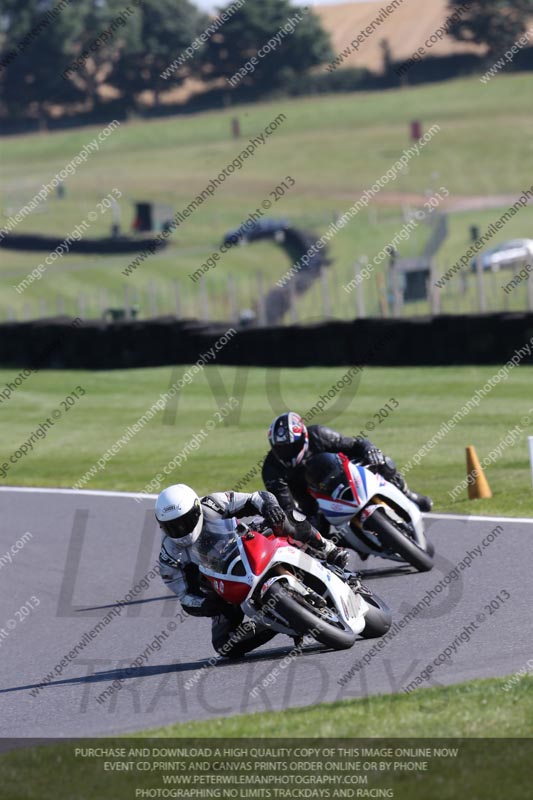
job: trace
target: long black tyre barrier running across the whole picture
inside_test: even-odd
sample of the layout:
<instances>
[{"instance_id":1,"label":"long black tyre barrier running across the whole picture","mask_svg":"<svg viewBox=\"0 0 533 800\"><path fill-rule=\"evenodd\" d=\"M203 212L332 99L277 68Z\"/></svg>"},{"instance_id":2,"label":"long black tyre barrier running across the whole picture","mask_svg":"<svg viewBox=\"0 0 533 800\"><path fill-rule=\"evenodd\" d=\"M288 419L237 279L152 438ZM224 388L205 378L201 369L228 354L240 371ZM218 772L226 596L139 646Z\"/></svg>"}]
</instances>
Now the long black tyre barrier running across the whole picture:
<instances>
[{"instance_id":1,"label":"long black tyre barrier running across the whole picture","mask_svg":"<svg viewBox=\"0 0 533 800\"><path fill-rule=\"evenodd\" d=\"M192 364L230 329L161 317L69 318L0 324L0 365L39 369L125 369ZM237 328L237 326L236 326ZM359 319L312 325L237 328L218 365L388 367L503 364L520 353L533 363L533 313Z\"/></svg>"}]
</instances>

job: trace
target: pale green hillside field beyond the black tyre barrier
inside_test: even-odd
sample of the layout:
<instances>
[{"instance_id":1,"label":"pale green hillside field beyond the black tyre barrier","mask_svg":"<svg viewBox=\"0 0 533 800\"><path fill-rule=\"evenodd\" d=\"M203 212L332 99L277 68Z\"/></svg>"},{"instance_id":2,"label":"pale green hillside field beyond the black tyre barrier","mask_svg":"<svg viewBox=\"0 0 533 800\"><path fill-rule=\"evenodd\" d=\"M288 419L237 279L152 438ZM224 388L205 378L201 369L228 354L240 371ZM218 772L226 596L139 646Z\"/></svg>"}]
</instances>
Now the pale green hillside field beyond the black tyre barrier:
<instances>
[{"instance_id":1,"label":"pale green hillside field beyond the black tyre barrier","mask_svg":"<svg viewBox=\"0 0 533 800\"><path fill-rule=\"evenodd\" d=\"M286 115L254 157L244 161L243 168L177 229L171 246L148 259L132 277L122 274L130 256L66 254L19 295L13 286L46 254L2 252L0 317L15 313L47 315L58 307L78 313L80 295L87 315L96 315L102 306L122 306L126 290L127 301L138 302L145 316L154 311L173 312L176 293L181 313L197 316L201 300L189 274L218 248L225 231L247 219L286 175L294 178L296 186L273 202L268 214L321 234L334 215L344 213L409 146L412 119L421 119L424 130L438 124L441 131L412 159L408 173L381 191L370 214L361 212L331 242L335 261L330 275L333 314L353 316L355 299L340 287L353 277L356 258L366 255L372 259L401 229L402 196L421 197L427 190L444 185L455 202L493 194L518 197L530 186L527 176L533 165L529 135L533 111L529 82L529 75L502 75L487 86L474 78L379 93L280 99L237 110L123 123L100 145L99 152L67 179L66 197L44 202L17 231L66 236L113 188L122 192L120 205L126 229L132 221L134 200L183 208L235 158L249 137L258 135L278 114ZM242 124L240 142L230 136L235 115ZM4 139L0 169L0 207L4 213L16 213L98 132L90 128ZM394 195L387 197L391 192ZM439 271L445 272L465 252L470 224L475 222L483 230L505 208L452 214L450 238L439 260ZM110 225L110 212L99 215L86 235L105 234ZM506 225L501 239L530 236L532 230L531 210L524 209ZM402 245L401 255L419 252L427 235L421 225ZM237 279L238 306L245 308L255 302L258 271L268 286L288 266L284 254L273 244L232 250L207 274L211 313L218 318L229 316L228 276ZM385 270L383 266L376 274ZM377 288L374 280L367 284L367 313L375 314ZM155 306L149 300L150 291L152 298L157 297ZM457 279L443 292L443 307L468 311L473 298L473 292L465 292ZM524 287L508 300L511 308L524 308ZM501 291L494 291L494 302L502 307ZM317 309L320 313L318 286L301 301L299 314L302 318L316 316ZM427 304L409 310L424 311Z\"/></svg>"}]
</instances>

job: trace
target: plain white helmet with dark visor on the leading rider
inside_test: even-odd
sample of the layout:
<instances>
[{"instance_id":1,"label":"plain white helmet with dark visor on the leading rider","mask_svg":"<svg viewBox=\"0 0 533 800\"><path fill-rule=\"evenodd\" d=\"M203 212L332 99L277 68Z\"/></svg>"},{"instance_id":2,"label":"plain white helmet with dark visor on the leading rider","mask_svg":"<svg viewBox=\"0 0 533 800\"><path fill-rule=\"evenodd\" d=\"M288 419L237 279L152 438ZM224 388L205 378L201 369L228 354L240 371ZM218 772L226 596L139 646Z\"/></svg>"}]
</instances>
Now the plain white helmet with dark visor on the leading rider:
<instances>
[{"instance_id":1,"label":"plain white helmet with dark visor on the leading rider","mask_svg":"<svg viewBox=\"0 0 533 800\"><path fill-rule=\"evenodd\" d=\"M198 495L184 483L161 492L155 503L155 518L167 536L178 540L180 547L194 544L204 521Z\"/></svg>"}]
</instances>

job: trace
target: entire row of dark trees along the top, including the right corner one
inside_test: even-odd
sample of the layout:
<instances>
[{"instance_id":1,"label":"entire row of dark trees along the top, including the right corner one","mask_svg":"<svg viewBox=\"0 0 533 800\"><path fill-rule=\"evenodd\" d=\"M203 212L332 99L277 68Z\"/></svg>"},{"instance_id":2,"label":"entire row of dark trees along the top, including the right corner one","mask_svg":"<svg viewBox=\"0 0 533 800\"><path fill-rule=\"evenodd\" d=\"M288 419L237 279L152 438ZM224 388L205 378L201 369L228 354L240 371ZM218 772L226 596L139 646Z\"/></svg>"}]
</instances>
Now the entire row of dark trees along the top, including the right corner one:
<instances>
[{"instance_id":1,"label":"entire row of dark trees along the top, including the right corner one","mask_svg":"<svg viewBox=\"0 0 533 800\"><path fill-rule=\"evenodd\" d=\"M487 58L533 13L533 0L448 0L465 4L450 34ZM305 84L335 56L319 17L290 0L233 0L212 16L190 0L0 0L0 115L157 106L190 79L231 102Z\"/></svg>"}]
</instances>

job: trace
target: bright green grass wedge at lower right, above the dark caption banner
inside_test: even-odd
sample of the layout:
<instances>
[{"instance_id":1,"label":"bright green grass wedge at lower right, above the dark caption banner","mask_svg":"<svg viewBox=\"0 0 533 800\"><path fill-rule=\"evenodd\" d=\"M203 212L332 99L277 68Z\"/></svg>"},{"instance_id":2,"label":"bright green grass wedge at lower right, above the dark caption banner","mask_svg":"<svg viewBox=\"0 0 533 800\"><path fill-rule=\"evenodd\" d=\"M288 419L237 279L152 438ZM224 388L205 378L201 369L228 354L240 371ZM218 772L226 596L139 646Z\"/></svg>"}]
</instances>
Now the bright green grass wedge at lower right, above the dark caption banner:
<instances>
[{"instance_id":1,"label":"bright green grass wedge at lower right, above the dark caption banner","mask_svg":"<svg viewBox=\"0 0 533 800\"><path fill-rule=\"evenodd\" d=\"M145 731L146 737L253 738L383 737L471 738L531 737L533 677L512 691L508 678L469 681L455 686L419 689L412 694L372 695L357 700L288 708L187 722ZM138 736L139 734L135 734Z\"/></svg>"}]
</instances>

